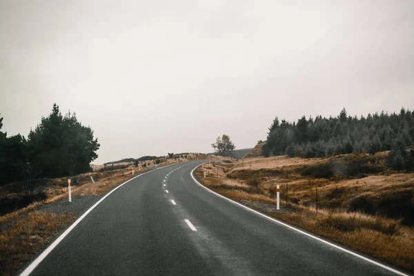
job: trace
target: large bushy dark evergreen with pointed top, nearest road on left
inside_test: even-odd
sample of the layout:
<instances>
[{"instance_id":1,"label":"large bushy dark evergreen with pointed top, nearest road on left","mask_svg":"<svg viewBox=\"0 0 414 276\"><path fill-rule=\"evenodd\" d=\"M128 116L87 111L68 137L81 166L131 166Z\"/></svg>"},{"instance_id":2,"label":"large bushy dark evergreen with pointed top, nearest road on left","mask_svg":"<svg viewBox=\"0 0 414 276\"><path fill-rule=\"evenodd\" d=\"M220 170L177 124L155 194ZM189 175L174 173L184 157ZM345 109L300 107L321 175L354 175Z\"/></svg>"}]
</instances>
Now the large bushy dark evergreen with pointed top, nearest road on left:
<instances>
[{"instance_id":1,"label":"large bushy dark evergreen with pointed top, nearest road on left","mask_svg":"<svg viewBox=\"0 0 414 276\"><path fill-rule=\"evenodd\" d=\"M30 131L28 148L34 177L62 177L88 172L99 143L75 113L63 117L55 103L50 115Z\"/></svg>"}]
</instances>

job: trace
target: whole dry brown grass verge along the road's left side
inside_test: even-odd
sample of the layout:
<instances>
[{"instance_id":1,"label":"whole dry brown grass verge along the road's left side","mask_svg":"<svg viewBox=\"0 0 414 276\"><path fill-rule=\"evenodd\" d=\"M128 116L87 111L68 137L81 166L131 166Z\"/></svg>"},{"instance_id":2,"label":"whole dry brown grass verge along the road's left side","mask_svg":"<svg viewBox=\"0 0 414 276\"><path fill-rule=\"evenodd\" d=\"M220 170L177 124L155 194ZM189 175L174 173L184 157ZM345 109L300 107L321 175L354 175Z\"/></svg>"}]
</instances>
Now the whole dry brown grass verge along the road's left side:
<instances>
[{"instance_id":1,"label":"whole dry brown grass verge along the road's left side","mask_svg":"<svg viewBox=\"0 0 414 276\"><path fill-rule=\"evenodd\" d=\"M144 171L138 171L134 176ZM90 175L97 179L95 184L90 180ZM130 169L78 175L79 186L72 186L72 197L103 195L131 177ZM68 197L68 188L66 186L65 188L62 187L67 179L54 180L54 184L46 189L48 199L30 204L26 208L0 217L1 275L10 275L10 273L16 272L41 250L56 233L66 228L75 219L75 214L57 215L52 212L46 213L34 210L43 204L50 204Z\"/></svg>"}]
</instances>

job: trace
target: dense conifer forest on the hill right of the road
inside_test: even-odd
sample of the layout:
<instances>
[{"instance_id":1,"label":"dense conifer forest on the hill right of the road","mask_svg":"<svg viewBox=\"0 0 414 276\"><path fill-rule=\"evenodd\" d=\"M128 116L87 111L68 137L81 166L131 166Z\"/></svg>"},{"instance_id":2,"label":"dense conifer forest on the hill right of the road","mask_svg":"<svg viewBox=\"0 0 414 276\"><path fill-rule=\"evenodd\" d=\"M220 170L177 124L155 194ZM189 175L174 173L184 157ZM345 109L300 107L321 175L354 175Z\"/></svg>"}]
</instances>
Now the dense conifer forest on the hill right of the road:
<instances>
[{"instance_id":1,"label":"dense conifer forest on the hill right of the road","mask_svg":"<svg viewBox=\"0 0 414 276\"><path fill-rule=\"evenodd\" d=\"M344 108L337 117L303 116L293 123L284 119L279 122L276 117L268 130L262 148L266 157L315 158L392 150L388 164L405 168L411 164L406 147L413 145L414 112L402 108L399 114L382 111L358 118L348 116Z\"/></svg>"}]
</instances>

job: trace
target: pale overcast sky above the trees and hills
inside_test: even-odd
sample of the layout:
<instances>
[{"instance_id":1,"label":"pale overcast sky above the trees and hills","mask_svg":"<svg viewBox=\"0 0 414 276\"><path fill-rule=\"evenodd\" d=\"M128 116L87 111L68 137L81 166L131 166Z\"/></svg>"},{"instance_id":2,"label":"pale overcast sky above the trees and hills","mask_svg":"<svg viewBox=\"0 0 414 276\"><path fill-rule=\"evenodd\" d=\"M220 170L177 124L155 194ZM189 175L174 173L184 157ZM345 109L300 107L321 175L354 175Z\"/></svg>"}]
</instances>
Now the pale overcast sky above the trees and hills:
<instances>
[{"instance_id":1,"label":"pale overcast sky above the trees and hills","mask_svg":"<svg viewBox=\"0 0 414 276\"><path fill-rule=\"evenodd\" d=\"M53 103L95 164L255 146L277 115L414 107L414 1L0 0L3 131Z\"/></svg>"}]
</instances>

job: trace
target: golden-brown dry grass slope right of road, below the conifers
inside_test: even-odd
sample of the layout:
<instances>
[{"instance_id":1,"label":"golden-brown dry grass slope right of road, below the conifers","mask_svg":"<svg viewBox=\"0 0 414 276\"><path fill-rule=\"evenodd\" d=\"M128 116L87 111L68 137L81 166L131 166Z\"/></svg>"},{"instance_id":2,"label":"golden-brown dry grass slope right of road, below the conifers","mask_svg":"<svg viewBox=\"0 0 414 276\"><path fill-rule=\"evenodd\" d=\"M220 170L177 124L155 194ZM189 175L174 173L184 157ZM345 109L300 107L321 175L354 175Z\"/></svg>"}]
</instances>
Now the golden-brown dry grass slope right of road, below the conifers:
<instances>
[{"instance_id":1,"label":"golden-brown dry grass slope right of road, below the conifers","mask_svg":"<svg viewBox=\"0 0 414 276\"><path fill-rule=\"evenodd\" d=\"M206 166L208 171L216 168L221 170L206 178L202 177L201 169L197 169L195 175L203 184L230 199L257 201L255 206L262 206L259 210L264 213L382 259L388 264L413 271L414 227L403 226L401 219L352 212L349 206L360 197L372 199L380 205L391 199L393 201L390 202L398 204L399 195L413 193L414 174L370 175L362 179L315 179L297 173L297 168L301 166L327 161L328 159L289 159L286 156L266 159L257 157L238 161L230 167ZM228 175L233 179L228 179ZM288 200L292 208L274 213L260 202L275 203L277 184L281 186L283 206L288 184ZM317 215L316 186L319 206Z\"/></svg>"}]
</instances>

